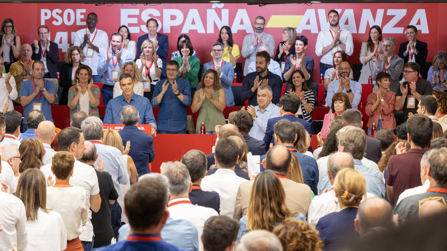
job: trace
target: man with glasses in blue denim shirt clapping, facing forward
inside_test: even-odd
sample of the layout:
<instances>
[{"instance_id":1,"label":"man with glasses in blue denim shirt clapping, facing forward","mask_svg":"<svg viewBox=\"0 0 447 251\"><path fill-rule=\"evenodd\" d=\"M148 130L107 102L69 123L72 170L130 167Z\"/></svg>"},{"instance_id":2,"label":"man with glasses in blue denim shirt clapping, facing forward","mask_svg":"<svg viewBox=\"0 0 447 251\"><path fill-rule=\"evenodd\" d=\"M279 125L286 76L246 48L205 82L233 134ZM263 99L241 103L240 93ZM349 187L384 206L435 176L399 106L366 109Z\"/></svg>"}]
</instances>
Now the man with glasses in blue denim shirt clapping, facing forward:
<instances>
[{"instance_id":1,"label":"man with glasses in blue denim shirt clapping, facing forward","mask_svg":"<svg viewBox=\"0 0 447 251\"><path fill-rule=\"evenodd\" d=\"M157 118L157 133L160 134L186 134L186 106L191 105L191 86L177 77L179 68L177 61L166 63L168 78L158 81L154 88L152 107L160 106Z\"/></svg>"}]
</instances>

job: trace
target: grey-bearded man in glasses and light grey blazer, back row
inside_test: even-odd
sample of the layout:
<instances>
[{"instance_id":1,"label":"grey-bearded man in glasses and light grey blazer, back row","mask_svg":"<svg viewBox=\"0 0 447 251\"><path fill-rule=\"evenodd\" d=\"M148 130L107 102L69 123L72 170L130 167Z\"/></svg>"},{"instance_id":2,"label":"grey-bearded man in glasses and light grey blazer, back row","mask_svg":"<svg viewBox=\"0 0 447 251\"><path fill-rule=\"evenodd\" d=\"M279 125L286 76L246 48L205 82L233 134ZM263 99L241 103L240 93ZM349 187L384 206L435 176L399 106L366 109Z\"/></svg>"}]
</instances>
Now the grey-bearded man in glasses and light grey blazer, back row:
<instances>
[{"instance_id":1,"label":"grey-bearded man in glasses and light grey blazer, back row","mask_svg":"<svg viewBox=\"0 0 447 251\"><path fill-rule=\"evenodd\" d=\"M256 60L256 53L261 44L266 44L269 48L275 47L275 40L272 35L264 33L266 19L264 17L256 17L254 20L255 32L246 35L242 43L242 56L246 58L244 66L244 76L248 73L248 67L251 62ZM270 56L273 56L274 51L270 51ZM255 103L256 104L256 103Z\"/></svg>"}]
</instances>

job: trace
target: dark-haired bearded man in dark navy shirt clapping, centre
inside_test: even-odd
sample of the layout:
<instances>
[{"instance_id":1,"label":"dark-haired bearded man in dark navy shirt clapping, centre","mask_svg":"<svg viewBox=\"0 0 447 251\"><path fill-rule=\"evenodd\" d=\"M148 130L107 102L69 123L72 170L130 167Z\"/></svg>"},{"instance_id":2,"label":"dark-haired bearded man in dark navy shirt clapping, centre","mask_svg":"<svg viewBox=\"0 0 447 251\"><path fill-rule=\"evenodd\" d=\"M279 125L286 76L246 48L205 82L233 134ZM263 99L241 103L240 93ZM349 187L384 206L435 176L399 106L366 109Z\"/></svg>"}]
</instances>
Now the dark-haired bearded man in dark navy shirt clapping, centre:
<instances>
[{"instance_id":1,"label":"dark-haired bearded man in dark navy shirt clapping, centre","mask_svg":"<svg viewBox=\"0 0 447 251\"><path fill-rule=\"evenodd\" d=\"M277 104L281 97L283 81L281 77L270 72L267 68L270 64L270 54L267 51L256 53L256 72L248 73L242 82L240 99L249 100L249 106L257 105L257 88L260 85L269 85L273 90L272 102ZM349 75L349 73L348 73Z\"/></svg>"}]
</instances>

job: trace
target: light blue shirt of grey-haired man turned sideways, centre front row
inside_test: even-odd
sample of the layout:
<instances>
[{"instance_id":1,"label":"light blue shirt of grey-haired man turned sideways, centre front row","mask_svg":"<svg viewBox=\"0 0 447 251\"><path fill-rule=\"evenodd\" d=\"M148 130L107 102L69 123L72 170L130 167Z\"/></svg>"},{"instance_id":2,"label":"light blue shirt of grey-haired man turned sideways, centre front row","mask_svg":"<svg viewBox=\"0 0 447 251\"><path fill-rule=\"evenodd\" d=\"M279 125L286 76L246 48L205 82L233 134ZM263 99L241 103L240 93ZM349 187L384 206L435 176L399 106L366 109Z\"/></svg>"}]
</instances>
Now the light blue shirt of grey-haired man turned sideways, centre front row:
<instances>
[{"instance_id":1,"label":"light blue shirt of grey-haired man turned sideways, centre front row","mask_svg":"<svg viewBox=\"0 0 447 251\"><path fill-rule=\"evenodd\" d=\"M253 127L251 128L249 135L257 140L263 140L266 135L267 121L271 118L280 117L281 113L279 110L281 109L272 102L270 102L270 105L268 105L263 112L259 110L259 106L255 106L254 109L256 111L257 119L253 121Z\"/></svg>"}]
</instances>

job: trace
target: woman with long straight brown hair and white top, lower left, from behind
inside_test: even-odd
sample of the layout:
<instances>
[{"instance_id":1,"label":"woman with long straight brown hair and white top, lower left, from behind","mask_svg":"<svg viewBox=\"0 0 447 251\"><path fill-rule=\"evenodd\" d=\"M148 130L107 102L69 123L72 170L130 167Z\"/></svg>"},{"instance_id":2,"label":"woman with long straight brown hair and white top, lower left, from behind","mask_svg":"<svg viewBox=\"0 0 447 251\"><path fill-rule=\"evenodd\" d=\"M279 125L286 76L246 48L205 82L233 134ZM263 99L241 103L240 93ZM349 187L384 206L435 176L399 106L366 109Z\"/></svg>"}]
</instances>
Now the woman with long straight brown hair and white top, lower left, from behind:
<instances>
[{"instance_id":1,"label":"woman with long straight brown hair and white top, lower left, from behind","mask_svg":"<svg viewBox=\"0 0 447 251\"><path fill-rule=\"evenodd\" d=\"M60 251L67 248L67 230L61 215L46 208L46 182L37 168L25 170L15 194L25 205L28 246L24 251Z\"/></svg>"}]
</instances>

